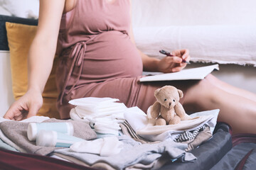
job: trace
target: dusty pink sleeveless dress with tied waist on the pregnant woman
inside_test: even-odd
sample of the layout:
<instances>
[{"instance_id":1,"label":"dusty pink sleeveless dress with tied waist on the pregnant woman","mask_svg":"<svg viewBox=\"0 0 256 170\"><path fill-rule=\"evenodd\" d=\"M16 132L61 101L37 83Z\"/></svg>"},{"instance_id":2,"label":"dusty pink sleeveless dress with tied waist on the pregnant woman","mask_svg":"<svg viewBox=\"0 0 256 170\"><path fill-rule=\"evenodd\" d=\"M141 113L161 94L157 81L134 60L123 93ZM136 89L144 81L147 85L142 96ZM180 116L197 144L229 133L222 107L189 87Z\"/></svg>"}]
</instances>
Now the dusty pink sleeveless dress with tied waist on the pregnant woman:
<instances>
[{"instance_id":1,"label":"dusty pink sleeveless dress with tied waist on the pregnant woman","mask_svg":"<svg viewBox=\"0 0 256 170\"><path fill-rule=\"evenodd\" d=\"M154 90L164 84L139 83L142 59L129 37L129 11L129 0L78 0L63 14L56 76L60 118L70 118L68 101L74 98L119 98L143 111L154 103Z\"/></svg>"}]
</instances>

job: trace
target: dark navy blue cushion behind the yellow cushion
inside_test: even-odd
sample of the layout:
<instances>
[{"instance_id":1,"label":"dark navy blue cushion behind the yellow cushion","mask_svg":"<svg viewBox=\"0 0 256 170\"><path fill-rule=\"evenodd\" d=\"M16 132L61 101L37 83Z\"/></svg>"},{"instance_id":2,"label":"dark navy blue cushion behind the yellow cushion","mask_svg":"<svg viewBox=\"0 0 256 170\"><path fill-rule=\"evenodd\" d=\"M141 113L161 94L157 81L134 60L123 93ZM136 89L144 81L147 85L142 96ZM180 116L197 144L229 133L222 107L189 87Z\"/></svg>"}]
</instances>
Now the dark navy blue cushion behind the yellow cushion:
<instances>
[{"instance_id":1,"label":"dark navy blue cushion behind the yellow cushion","mask_svg":"<svg viewBox=\"0 0 256 170\"><path fill-rule=\"evenodd\" d=\"M6 36L6 26L5 26L6 22L22 23L30 26L38 25L38 20L36 19L18 18L14 16L0 15L0 50L9 50L7 36Z\"/></svg>"}]
</instances>

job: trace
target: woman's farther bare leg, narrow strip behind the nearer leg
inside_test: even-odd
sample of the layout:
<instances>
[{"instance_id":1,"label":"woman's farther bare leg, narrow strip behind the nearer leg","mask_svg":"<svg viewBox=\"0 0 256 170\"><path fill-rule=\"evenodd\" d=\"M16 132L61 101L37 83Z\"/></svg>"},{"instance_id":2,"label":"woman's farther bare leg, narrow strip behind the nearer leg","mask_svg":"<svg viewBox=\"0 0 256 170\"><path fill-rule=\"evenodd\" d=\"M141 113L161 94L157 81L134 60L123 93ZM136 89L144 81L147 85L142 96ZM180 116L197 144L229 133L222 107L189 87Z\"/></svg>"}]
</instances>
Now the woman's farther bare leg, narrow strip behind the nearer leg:
<instances>
[{"instance_id":1,"label":"woman's farther bare leg, narrow strip behind the nearer leg","mask_svg":"<svg viewBox=\"0 0 256 170\"><path fill-rule=\"evenodd\" d=\"M219 89L223 89L224 91L227 91L230 94L235 94L256 102L256 94L253 94L250 91L246 91L244 89L240 89L238 87L227 84L224 81L220 81L220 79L217 79L212 74L209 74L207 79L211 82L211 84L218 86Z\"/></svg>"}]
</instances>

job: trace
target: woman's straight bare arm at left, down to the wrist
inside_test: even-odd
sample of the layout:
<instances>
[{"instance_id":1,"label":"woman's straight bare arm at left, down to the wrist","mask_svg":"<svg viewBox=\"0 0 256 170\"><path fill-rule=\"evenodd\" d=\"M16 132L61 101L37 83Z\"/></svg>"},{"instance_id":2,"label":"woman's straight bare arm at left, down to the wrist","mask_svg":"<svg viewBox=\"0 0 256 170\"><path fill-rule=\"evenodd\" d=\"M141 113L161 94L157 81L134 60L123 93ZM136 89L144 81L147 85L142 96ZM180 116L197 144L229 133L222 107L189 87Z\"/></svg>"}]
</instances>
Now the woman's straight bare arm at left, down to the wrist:
<instances>
[{"instance_id":1,"label":"woman's straight bare arm at left, down to the wrist","mask_svg":"<svg viewBox=\"0 0 256 170\"><path fill-rule=\"evenodd\" d=\"M43 93L53 67L64 4L63 0L40 1L38 28L28 52L28 91Z\"/></svg>"}]
</instances>

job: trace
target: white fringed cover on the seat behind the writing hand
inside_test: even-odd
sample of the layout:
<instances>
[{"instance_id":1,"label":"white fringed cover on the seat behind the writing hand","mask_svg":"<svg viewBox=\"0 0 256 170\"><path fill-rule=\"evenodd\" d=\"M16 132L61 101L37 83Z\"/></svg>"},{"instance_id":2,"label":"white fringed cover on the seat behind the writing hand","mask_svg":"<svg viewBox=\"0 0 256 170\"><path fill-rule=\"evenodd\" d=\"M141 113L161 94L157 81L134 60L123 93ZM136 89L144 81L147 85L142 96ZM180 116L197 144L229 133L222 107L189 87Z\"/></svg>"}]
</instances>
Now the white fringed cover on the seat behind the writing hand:
<instances>
[{"instance_id":1,"label":"white fringed cover on the seat behind the writing hand","mask_svg":"<svg viewBox=\"0 0 256 170\"><path fill-rule=\"evenodd\" d=\"M139 50L164 57L159 50L188 49L193 62L256 66L256 26L167 26L134 28Z\"/></svg>"}]
</instances>

